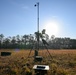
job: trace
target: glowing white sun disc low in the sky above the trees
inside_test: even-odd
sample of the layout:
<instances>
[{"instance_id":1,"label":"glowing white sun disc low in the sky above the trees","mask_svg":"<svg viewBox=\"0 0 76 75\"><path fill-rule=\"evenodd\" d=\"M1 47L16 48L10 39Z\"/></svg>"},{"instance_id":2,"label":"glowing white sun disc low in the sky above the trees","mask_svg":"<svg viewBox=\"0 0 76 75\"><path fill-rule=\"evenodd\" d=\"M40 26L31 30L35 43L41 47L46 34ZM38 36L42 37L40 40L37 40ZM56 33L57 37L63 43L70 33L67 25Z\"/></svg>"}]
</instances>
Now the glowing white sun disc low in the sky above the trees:
<instances>
[{"instance_id":1,"label":"glowing white sun disc low in the sky above the trees","mask_svg":"<svg viewBox=\"0 0 76 75\"><path fill-rule=\"evenodd\" d=\"M51 37L51 35L58 35L59 32L59 24L56 21L49 21L45 23L44 29L46 29L46 33Z\"/></svg>"}]
</instances>

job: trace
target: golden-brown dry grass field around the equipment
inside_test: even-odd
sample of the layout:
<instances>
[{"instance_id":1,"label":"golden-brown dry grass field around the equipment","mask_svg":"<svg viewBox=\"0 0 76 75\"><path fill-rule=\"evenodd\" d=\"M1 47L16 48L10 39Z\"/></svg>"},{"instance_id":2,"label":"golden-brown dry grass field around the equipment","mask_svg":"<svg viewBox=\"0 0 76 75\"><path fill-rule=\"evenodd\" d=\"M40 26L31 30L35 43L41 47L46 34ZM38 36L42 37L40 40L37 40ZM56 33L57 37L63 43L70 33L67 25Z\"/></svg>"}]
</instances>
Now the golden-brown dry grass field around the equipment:
<instances>
[{"instance_id":1,"label":"golden-brown dry grass field around the equipment","mask_svg":"<svg viewBox=\"0 0 76 75\"><path fill-rule=\"evenodd\" d=\"M0 54L0 75L34 75L35 64L50 66L47 75L76 75L76 50L39 50L43 56L42 62L34 62L34 51L30 50L0 50L11 52L11 56Z\"/></svg>"}]
</instances>

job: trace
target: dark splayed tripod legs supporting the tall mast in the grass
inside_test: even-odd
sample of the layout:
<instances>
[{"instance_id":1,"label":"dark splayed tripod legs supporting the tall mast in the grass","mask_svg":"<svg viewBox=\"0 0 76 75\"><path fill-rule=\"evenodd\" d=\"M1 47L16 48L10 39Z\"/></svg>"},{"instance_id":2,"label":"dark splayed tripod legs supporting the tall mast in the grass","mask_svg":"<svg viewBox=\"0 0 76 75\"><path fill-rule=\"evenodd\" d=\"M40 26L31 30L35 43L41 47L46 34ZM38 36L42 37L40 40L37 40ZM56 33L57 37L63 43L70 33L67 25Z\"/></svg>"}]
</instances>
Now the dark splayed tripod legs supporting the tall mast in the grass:
<instances>
[{"instance_id":1,"label":"dark splayed tripod legs supporting the tall mast in the grass","mask_svg":"<svg viewBox=\"0 0 76 75\"><path fill-rule=\"evenodd\" d=\"M43 38L41 38L42 39L42 44L44 45L44 48L46 49L46 51L48 52L48 54L49 54L49 56L50 56L50 58L51 59L53 59L53 57L51 56L51 54L50 54L50 52L49 52L49 50L48 50L48 46L49 46L49 44L46 42L46 40L44 40ZM34 41L31 45L31 49L30 49L30 52L29 52L29 54L28 54L28 57L26 58L26 59L28 59L29 58L29 56L30 56L30 54L31 54L31 52L32 52L32 50L35 50L35 54L34 54L34 60L36 59L36 57L38 58L41 58L41 60L42 60L42 57L40 57L40 56L38 56L38 45L37 45L38 43L37 43L37 41ZM37 56L36 56L37 55ZM40 61L41 61L40 60Z\"/></svg>"}]
</instances>

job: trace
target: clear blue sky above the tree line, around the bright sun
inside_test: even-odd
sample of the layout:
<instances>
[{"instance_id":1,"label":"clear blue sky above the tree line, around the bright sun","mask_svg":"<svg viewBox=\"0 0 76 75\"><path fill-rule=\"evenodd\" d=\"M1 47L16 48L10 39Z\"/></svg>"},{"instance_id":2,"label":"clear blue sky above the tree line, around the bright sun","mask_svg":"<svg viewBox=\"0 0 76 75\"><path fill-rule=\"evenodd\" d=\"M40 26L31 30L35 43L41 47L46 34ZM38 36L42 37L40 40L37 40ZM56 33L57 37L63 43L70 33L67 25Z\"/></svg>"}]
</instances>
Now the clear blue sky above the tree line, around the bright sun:
<instances>
[{"instance_id":1,"label":"clear blue sky above the tree line, around the bright sun","mask_svg":"<svg viewBox=\"0 0 76 75\"><path fill-rule=\"evenodd\" d=\"M0 0L0 34L34 34L37 31L37 7L34 7L37 2L40 30L54 20L58 22L56 37L76 38L76 0Z\"/></svg>"}]
</instances>

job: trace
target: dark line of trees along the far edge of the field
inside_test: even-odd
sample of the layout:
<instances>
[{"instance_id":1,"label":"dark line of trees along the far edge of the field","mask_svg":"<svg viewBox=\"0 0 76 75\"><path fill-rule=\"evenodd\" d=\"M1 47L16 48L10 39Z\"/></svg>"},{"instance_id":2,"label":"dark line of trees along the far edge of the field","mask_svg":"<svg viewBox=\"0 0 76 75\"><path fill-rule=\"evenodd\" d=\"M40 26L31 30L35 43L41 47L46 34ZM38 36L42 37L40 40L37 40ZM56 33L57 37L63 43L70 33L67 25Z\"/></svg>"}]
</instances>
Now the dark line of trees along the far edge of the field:
<instances>
[{"instance_id":1,"label":"dark line of trees along the far edge of the field","mask_svg":"<svg viewBox=\"0 0 76 75\"><path fill-rule=\"evenodd\" d=\"M54 35L49 38L49 36L39 34L39 48L43 49L42 38L48 43L49 49L76 49L76 39L70 38L58 38ZM37 46L37 32L35 34L29 35L16 35L5 37L3 34L0 34L0 49L31 49L36 48Z\"/></svg>"}]
</instances>

